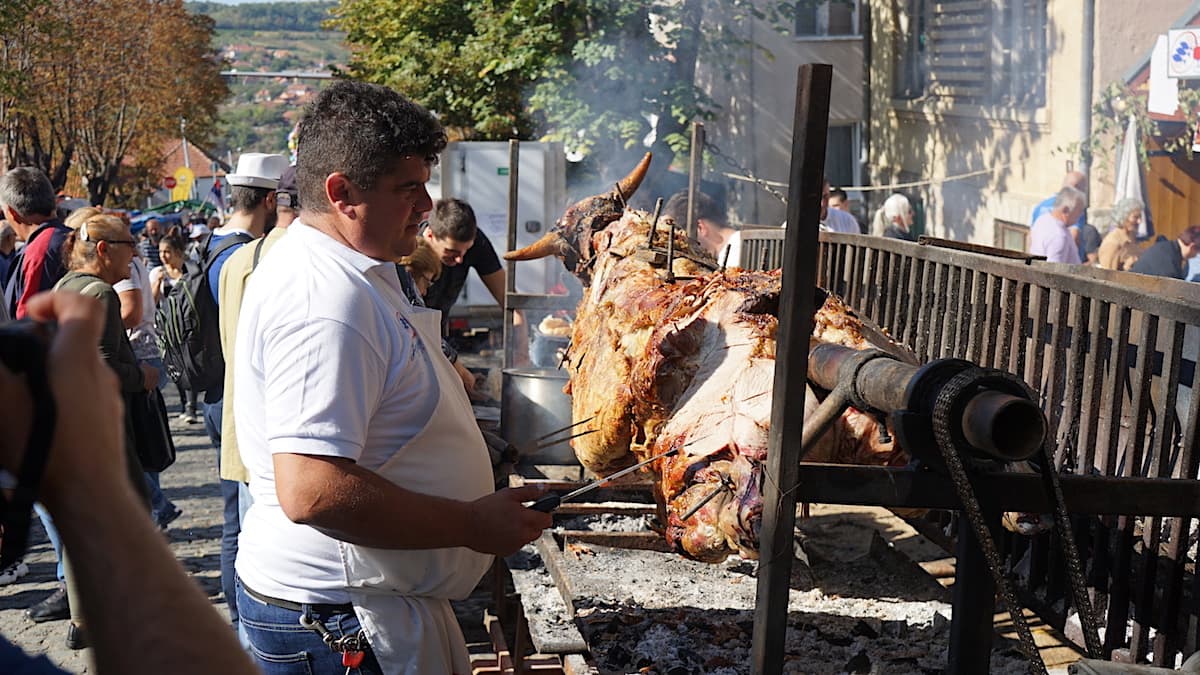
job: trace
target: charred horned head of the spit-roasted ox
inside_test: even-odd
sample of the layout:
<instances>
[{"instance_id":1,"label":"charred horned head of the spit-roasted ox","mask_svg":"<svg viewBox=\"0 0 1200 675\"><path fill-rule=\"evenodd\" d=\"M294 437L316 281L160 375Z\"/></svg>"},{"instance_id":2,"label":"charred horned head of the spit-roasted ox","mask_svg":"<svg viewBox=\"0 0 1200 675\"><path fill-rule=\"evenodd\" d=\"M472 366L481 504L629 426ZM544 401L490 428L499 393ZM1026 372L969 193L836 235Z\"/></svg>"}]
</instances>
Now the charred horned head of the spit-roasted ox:
<instances>
[{"instance_id":1,"label":"charred horned head of the spit-roasted ox","mask_svg":"<svg viewBox=\"0 0 1200 675\"><path fill-rule=\"evenodd\" d=\"M535 261L557 256L566 269L586 277L595 255L592 250L592 235L620 217L625 202L637 191L649 167L650 154L647 153L611 192L580 199L563 213L563 217L558 219L545 237L524 249L505 253L504 258Z\"/></svg>"}]
</instances>

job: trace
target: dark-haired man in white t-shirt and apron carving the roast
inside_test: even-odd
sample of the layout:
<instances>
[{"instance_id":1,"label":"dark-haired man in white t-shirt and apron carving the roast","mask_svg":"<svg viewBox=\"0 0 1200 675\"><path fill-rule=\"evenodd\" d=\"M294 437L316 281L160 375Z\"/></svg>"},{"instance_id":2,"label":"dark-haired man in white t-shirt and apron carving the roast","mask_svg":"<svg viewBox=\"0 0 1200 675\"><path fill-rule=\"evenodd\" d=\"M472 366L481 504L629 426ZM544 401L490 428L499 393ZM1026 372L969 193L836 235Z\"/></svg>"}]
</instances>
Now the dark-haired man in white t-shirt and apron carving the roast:
<instances>
[{"instance_id":1,"label":"dark-haired man in white t-shirt and apron carving the roast","mask_svg":"<svg viewBox=\"0 0 1200 675\"><path fill-rule=\"evenodd\" d=\"M444 147L428 112L360 82L300 123L300 219L247 283L234 357L238 609L264 669L469 671L449 599L551 524L523 506L539 490L493 492L438 312L396 275Z\"/></svg>"}]
</instances>

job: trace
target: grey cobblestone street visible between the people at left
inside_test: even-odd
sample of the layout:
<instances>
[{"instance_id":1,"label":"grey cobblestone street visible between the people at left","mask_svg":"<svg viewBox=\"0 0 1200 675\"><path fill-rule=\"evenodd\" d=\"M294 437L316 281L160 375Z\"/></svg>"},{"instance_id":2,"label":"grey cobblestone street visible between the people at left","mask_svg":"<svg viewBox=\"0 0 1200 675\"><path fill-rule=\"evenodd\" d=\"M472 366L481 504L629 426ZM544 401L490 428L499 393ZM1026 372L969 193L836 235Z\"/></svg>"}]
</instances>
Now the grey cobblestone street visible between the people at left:
<instances>
[{"instance_id":1,"label":"grey cobblestone street visible between the people at left","mask_svg":"<svg viewBox=\"0 0 1200 675\"><path fill-rule=\"evenodd\" d=\"M221 492L217 488L216 450L209 444L204 424L179 420L179 399L174 387L167 396L172 430L179 450L175 464L162 473L167 496L184 509L166 537L175 557L224 614L221 595ZM103 508L103 504L97 504ZM146 516L149 518L149 515ZM67 621L34 623L25 608L41 602L55 589L54 550L41 521L34 516L30 549L25 556L29 575L16 584L0 586L0 632L29 653L46 653L50 661L72 673L95 673L89 651L66 647ZM77 561L76 565L86 565ZM130 629L137 629L131 626Z\"/></svg>"}]
</instances>

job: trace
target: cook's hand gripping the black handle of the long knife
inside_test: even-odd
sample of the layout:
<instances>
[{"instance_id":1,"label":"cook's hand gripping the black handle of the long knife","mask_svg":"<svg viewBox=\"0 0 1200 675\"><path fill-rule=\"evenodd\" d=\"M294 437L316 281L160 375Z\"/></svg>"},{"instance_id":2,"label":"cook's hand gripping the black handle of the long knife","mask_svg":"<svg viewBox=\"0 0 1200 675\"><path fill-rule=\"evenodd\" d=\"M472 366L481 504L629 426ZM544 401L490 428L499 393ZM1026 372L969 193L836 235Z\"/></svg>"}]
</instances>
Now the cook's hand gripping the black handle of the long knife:
<instances>
[{"instance_id":1,"label":"cook's hand gripping the black handle of the long knife","mask_svg":"<svg viewBox=\"0 0 1200 675\"><path fill-rule=\"evenodd\" d=\"M485 554L509 555L541 536L553 519L548 513L527 508L542 496L545 490L536 485L505 488L480 497L470 503L474 527L472 549Z\"/></svg>"}]
</instances>

